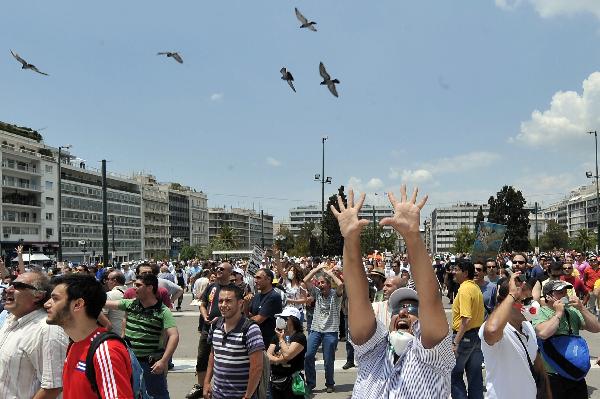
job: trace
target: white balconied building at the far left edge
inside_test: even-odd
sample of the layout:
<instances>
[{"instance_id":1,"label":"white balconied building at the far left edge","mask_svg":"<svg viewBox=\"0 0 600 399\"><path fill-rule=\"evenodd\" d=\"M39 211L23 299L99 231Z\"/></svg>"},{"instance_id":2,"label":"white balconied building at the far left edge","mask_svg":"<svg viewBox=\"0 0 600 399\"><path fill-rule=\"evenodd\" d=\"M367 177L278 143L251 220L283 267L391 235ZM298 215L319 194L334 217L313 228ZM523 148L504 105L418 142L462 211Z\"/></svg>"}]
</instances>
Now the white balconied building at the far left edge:
<instances>
[{"instance_id":1,"label":"white balconied building at the far left edge","mask_svg":"<svg viewBox=\"0 0 600 399\"><path fill-rule=\"evenodd\" d=\"M23 243L33 252L55 255L57 231L57 163L42 136L28 128L0 122L2 256Z\"/></svg>"}]
</instances>

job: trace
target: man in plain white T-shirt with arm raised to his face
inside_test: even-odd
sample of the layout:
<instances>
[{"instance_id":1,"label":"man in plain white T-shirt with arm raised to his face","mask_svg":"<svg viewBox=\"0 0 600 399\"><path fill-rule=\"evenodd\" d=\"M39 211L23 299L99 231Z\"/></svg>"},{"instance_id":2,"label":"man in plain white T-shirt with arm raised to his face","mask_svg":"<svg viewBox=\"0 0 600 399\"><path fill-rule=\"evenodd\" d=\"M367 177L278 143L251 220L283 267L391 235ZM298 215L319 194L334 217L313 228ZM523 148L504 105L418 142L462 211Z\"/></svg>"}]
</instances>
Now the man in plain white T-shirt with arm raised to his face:
<instances>
[{"instance_id":1,"label":"man in plain white T-shirt with arm raised to his face","mask_svg":"<svg viewBox=\"0 0 600 399\"><path fill-rule=\"evenodd\" d=\"M531 297L531 285L517 279L520 274L500 281L498 305L479 330L489 399L535 398L537 388L530 364L546 378L535 330L529 322L540 305Z\"/></svg>"}]
</instances>

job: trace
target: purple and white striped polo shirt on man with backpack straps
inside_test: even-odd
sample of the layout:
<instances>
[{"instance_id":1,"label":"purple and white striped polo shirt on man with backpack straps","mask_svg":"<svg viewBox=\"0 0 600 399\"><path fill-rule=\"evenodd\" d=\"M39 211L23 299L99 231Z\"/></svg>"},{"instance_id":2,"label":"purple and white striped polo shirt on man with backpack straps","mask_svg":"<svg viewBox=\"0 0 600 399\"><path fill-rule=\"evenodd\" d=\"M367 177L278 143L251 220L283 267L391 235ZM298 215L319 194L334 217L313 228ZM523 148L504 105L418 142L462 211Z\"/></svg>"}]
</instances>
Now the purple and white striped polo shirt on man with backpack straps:
<instances>
[{"instance_id":1,"label":"purple and white striped polo shirt on man with backpack straps","mask_svg":"<svg viewBox=\"0 0 600 399\"><path fill-rule=\"evenodd\" d=\"M213 399L241 398L246 393L250 377L250 354L265 350L262 334L252 323L246 337L242 333L242 317L237 326L226 333L225 325L211 329L213 345ZM262 362L262 358L261 358Z\"/></svg>"}]
</instances>

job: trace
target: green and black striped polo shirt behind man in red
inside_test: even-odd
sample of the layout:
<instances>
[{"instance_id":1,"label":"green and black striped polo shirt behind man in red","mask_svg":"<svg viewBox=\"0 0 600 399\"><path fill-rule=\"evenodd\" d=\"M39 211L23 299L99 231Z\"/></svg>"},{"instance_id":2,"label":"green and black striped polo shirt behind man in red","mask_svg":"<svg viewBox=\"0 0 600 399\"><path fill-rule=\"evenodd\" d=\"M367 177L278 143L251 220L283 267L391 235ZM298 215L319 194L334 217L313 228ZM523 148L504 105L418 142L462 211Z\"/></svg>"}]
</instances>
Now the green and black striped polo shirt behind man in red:
<instances>
[{"instance_id":1,"label":"green and black striped polo shirt behind man in red","mask_svg":"<svg viewBox=\"0 0 600 399\"><path fill-rule=\"evenodd\" d=\"M145 308L139 299L121 299L119 310L127 312L125 337L137 357L146 357L162 349L163 330L177 326L173 314L161 301Z\"/></svg>"}]
</instances>

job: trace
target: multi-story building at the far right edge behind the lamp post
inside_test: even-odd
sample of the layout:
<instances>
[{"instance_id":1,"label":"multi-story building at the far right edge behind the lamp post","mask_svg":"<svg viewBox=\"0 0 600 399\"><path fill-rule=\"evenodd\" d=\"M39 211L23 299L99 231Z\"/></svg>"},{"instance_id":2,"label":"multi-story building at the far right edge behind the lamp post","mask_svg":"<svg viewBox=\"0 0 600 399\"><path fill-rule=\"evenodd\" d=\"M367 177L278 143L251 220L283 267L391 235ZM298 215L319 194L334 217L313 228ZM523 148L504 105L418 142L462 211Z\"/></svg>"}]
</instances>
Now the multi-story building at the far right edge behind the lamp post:
<instances>
[{"instance_id":1,"label":"multi-story building at the far right edge behind the lamp post","mask_svg":"<svg viewBox=\"0 0 600 399\"><path fill-rule=\"evenodd\" d=\"M554 220L567 229L569 237L580 229L595 231L598 225L596 185L581 186L564 199L542 211L546 220Z\"/></svg>"}]
</instances>

